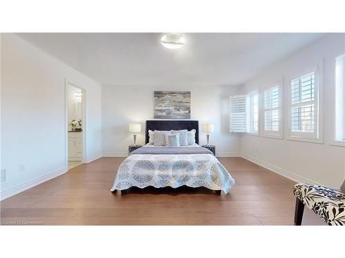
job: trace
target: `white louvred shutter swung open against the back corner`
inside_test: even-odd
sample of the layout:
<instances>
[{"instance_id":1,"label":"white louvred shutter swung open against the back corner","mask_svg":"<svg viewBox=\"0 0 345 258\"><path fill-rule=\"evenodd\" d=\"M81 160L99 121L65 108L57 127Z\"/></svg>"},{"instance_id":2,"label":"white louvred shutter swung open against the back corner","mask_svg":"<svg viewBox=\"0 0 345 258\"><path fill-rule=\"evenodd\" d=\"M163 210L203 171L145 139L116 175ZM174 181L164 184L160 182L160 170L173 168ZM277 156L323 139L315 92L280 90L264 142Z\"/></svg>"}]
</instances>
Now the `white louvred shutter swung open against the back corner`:
<instances>
[{"instance_id":1,"label":"white louvred shutter swung open against the back corner","mask_svg":"<svg viewBox=\"0 0 345 258\"><path fill-rule=\"evenodd\" d=\"M246 95L230 96L230 132L246 132Z\"/></svg>"}]
</instances>

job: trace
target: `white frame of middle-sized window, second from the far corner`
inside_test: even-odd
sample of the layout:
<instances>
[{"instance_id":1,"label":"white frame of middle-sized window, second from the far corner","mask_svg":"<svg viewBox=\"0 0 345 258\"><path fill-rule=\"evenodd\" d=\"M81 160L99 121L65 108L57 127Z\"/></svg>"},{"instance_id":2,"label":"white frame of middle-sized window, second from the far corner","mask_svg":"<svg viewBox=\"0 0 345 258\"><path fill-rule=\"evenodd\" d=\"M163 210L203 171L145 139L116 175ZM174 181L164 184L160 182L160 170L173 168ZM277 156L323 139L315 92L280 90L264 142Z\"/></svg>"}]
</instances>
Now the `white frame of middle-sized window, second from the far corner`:
<instances>
[{"instance_id":1,"label":"white frame of middle-sized window, second from the far corner","mask_svg":"<svg viewBox=\"0 0 345 258\"><path fill-rule=\"evenodd\" d=\"M284 114L283 114L283 108L284 108L284 79L283 78L279 78L278 80L275 80L274 83L269 83L266 86L262 87L261 89L261 97L262 97L262 111L261 111L261 124L262 124L262 128L261 128L261 136L262 137L268 137L268 138L279 138L279 139L283 139L284 137ZM275 108L269 108L266 109L265 107L265 92L269 89L273 89L275 87L279 88L279 105L278 107ZM278 131L272 131L272 130L266 130L266 111L273 111L273 110L278 110L278 115L279 115L279 130Z\"/></svg>"}]
</instances>

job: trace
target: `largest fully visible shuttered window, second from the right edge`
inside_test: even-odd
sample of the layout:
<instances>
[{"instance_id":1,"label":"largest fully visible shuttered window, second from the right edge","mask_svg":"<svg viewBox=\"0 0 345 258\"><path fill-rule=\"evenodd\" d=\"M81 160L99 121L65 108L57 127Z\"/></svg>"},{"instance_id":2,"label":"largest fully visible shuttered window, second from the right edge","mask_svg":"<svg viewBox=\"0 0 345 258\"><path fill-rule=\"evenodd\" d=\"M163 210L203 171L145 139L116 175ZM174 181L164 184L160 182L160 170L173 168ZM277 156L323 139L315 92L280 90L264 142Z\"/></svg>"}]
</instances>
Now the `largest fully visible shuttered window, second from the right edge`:
<instances>
[{"instance_id":1,"label":"largest fully visible shuttered window, second from the right edge","mask_svg":"<svg viewBox=\"0 0 345 258\"><path fill-rule=\"evenodd\" d=\"M290 80L289 137L319 140L318 72L311 69Z\"/></svg>"}]
</instances>

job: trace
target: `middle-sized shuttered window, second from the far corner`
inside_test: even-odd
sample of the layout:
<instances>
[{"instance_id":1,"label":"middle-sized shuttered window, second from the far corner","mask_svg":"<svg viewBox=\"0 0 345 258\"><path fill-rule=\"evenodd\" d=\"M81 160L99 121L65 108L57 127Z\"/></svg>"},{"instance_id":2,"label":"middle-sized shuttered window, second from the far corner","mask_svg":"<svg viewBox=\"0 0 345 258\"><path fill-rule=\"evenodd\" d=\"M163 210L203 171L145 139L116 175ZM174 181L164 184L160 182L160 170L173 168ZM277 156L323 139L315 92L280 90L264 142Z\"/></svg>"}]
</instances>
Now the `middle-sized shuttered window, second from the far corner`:
<instances>
[{"instance_id":1,"label":"middle-sized shuttered window, second from the far corner","mask_svg":"<svg viewBox=\"0 0 345 258\"><path fill-rule=\"evenodd\" d=\"M263 136L282 136L282 82L264 89Z\"/></svg>"}]
</instances>

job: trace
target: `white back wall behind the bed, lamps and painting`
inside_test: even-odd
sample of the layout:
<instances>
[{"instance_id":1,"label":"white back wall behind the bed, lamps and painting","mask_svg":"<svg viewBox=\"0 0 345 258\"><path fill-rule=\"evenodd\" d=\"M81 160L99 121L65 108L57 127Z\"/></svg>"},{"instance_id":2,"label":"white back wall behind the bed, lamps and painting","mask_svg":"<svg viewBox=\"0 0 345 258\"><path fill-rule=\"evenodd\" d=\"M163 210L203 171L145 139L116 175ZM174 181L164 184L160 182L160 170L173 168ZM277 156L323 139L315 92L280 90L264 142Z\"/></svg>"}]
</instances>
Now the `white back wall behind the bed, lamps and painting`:
<instances>
[{"instance_id":1,"label":"white back wall behind the bed, lamps and painting","mask_svg":"<svg viewBox=\"0 0 345 258\"><path fill-rule=\"evenodd\" d=\"M229 133L229 96L237 94L238 87L193 86L153 87L103 86L102 87L102 129L103 154L107 156L126 155L128 145L133 143L128 133L130 122L141 122L141 133L137 144L144 144L145 120L153 119L153 92L155 90L176 90L191 92L191 119L199 120L200 144L206 144L206 135L201 133L201 124L213 122L215 133L210 134L210 144L216 145L217 155L232 155L239 151L239 137Z\"/></svg>"}]
</instances>

